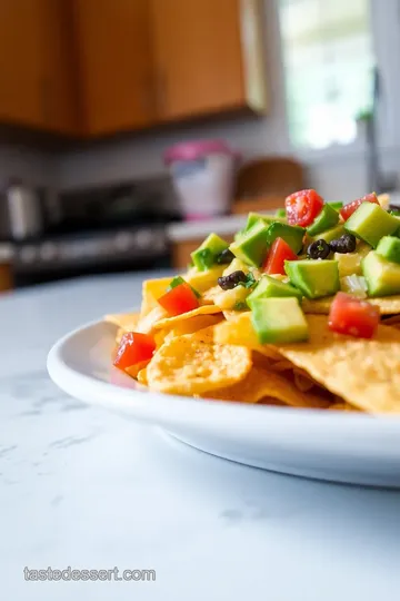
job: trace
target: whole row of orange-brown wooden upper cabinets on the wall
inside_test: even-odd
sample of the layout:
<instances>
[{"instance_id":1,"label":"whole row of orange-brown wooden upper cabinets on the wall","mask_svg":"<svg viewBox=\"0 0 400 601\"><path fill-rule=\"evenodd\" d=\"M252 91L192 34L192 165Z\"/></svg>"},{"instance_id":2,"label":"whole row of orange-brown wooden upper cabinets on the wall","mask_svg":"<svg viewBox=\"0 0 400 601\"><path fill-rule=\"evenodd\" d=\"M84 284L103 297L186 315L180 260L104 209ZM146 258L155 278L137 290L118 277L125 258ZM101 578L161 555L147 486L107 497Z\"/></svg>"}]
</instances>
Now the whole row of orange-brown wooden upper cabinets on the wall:
<instances>
[{"instance_id":1,"label":"whole row of orange-brown wooden upper cabinets on the wall","mask_svg":"<svg viewBox=\"0 0 400 601\"><path fill-rule=\"evenodd\" d=\"M99 137L267 108L262 0L1 0L0 125Z\"/></svg>"}]
</instances>

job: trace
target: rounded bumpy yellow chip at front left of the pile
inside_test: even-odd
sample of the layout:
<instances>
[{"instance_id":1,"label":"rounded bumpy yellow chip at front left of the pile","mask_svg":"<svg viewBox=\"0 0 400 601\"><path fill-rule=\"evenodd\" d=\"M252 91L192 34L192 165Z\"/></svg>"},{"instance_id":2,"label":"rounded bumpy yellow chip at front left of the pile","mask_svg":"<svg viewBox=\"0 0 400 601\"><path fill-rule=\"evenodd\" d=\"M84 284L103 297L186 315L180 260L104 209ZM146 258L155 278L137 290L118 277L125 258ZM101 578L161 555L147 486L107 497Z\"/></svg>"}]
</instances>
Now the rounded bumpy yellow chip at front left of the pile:
<instances>
[{"instance_id":1,"label":"rounded bumpy yellow chip at front left of the pile","mask_svg":"<svg viewBox=\"0 0 400 601\"><path fill-rule=\"evenodd\" d=\"M246 377L251 368L249 348L207 344L196 336L178 336L159 348L147 367L150 388L193 395L229 386Z\"/></svg>"}]
</instances>

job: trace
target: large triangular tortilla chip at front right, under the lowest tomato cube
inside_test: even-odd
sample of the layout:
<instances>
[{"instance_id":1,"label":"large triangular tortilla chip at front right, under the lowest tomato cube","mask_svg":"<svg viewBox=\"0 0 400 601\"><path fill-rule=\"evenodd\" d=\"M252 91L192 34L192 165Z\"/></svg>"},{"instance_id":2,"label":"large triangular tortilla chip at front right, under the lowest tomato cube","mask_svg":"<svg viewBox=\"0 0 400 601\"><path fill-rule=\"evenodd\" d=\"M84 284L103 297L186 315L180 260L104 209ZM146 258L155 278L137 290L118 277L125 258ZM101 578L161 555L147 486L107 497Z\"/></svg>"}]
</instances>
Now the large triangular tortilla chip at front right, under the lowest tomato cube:
<instances>
[{"instance_id":1,"label":"large triangular tortilla chip at front right, under the lowest tomato cube","mask_svg":"<svg viewBox=\"0 0 400 601\"><path fill-rule=\"evenodd\" d=\"M400 333L379 326L373 339L334 334L309 315L309 343L279 345L294 365L344 401L370 413L400 412Z\"/></svg>"}]
</instances>

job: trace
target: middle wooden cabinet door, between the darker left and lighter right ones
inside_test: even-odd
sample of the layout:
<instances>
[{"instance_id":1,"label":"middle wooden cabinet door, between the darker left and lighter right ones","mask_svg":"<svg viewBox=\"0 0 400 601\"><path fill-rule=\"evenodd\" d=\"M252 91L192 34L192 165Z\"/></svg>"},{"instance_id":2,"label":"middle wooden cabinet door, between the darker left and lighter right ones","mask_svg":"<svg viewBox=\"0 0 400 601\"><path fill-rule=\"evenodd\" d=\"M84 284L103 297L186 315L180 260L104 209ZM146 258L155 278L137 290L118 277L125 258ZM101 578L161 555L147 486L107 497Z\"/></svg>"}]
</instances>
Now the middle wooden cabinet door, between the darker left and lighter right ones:
<instances>
[{"instance_id":1,"label":"middle wooden cabinet door, between the darker left and lighter right ones","mask_svg":"<svg viewBox=\"0 0 400 601\"><path fill-rule=\"evenodd\" d=\"M74 24L87 132L151 124L149 0L74 0Z\"/></svg>"}]
</instances>

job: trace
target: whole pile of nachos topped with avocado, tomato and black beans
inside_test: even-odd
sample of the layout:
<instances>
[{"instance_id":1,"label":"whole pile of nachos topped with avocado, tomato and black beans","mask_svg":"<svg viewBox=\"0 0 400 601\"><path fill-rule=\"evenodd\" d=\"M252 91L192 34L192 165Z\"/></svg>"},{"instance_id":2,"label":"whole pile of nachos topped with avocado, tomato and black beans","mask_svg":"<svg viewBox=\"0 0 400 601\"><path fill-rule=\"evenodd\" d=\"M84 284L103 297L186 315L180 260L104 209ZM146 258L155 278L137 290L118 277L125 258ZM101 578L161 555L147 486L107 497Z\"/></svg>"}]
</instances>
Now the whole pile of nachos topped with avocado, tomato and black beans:
<instances>
[{"instance_id":1,"label":"whole pile of nachos topped with avocado, tomato and black beans","mask_svg":"<svg viewBox=\"0 0 400 601\"><path fill-rule=\"evenodd\" d=\"M387 195L290 195L231 244L210 234L186 273L143 282L113 365L167 394L400 413L400 213Z\"/></svg>"}]
</instances>

